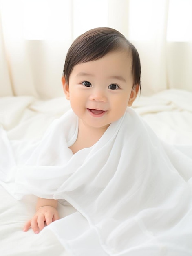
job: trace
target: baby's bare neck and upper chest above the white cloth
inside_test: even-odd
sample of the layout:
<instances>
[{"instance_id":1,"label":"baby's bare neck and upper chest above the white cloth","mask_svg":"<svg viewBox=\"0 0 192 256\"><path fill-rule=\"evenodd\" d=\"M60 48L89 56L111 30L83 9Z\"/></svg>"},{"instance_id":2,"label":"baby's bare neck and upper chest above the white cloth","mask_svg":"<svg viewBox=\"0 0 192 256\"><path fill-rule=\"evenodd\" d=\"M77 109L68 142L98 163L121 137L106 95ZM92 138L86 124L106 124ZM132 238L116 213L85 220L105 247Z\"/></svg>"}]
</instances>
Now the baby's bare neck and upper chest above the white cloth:
<instances>
[{"instance_id":1,"label":"baby's bare neck and upper chest above the white cloth","mask_svg":"<svg viewBox=\"0 0 192 256\"><path fill-rule=\"evenodd\" d=\"M70 147L73 154L83 148L90 148L93 146L99 139L102 137L104 132L107 130L108 127L105 128L94 128L85 126L81 121L79 121L79 131L77 140L75 143Z\"/></svg>"}]
</instances>

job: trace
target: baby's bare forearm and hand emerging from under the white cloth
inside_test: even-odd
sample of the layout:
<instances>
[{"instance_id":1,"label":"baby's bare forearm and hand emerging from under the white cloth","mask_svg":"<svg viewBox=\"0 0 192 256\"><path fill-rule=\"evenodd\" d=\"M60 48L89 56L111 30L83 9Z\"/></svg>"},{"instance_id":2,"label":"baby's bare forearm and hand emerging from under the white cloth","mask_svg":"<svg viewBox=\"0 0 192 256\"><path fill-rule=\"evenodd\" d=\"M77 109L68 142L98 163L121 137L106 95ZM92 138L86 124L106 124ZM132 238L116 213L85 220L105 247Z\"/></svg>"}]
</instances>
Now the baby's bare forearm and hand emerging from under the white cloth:
<instances>
[{"instance_id":1,"label":"baby's bare forearm and hand emerging from under the white cloth","mask_svg":"<svg viewBox=\"0 0 192 256\"><path fill-rule=\"evenodd\" d=\"M57 211L57 200L38 198L36 204L36 213L31 220L26 222L23 231L28 231L31 227L37 234L41 231L45 222L49 225L51 222L58 220L59 214Z\"/></svg>"}]
</instances>

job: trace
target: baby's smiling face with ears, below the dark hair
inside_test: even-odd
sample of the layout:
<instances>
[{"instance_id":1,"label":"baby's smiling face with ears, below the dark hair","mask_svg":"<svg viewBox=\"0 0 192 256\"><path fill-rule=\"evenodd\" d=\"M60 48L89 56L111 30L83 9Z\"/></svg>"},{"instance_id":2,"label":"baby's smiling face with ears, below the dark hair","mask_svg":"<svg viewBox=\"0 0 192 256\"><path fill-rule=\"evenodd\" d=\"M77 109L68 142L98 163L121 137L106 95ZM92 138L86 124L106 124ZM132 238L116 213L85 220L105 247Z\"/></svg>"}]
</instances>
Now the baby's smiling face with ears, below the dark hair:
<instances>
[{"instance_id":1,"label":"baby's smiling face with ears, below the dark hair","mask_svg":"<svg viewBox=\"0 0 192 256\"><path fill-rule=\"evenodd\" d=\"M65 93L80 121L105 130L132 105L138 91L132 87L131 55L116 51L76 65Z\"/></svg>"}]
</instances>

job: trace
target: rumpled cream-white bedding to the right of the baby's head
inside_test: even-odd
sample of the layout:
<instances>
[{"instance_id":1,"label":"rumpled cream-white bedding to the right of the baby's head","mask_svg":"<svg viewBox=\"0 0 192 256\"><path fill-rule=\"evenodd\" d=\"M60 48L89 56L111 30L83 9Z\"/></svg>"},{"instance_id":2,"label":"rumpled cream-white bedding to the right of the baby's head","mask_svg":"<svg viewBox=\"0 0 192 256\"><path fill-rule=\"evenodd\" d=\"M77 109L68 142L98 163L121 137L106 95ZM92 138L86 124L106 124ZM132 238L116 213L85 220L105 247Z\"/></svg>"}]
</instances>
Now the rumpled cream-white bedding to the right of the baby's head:
<instances>
[{"instance_id":1,"label":"rumpled cream-white bedding to the right of the baby's head","mask_svg":"<svg viewBox=\"0 0 192 256\"><path fill-rule=\"evenodd\" d=\"M165 90L137 98L135 110L170 144L192 144L192 92Z\"/></svg>"}]
</instances>

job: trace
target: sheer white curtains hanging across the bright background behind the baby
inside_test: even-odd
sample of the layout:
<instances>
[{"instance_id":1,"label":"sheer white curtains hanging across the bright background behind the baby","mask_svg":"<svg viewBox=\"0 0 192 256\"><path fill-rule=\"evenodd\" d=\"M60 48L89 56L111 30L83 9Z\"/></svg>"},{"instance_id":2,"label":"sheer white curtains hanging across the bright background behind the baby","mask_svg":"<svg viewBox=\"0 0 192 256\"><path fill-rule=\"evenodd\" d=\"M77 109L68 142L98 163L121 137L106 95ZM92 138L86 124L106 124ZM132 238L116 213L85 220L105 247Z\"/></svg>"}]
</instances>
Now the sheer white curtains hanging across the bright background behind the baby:
<instances>
[{"instance_id":1,"label":"sheer white curtains hanging across the bright background behind the baby","mask_svg":"<svg viewBox=\"0 0 192 256\"><path fill-rule=\"evenodd\" d=\"M63 96L68 47L94 27L135 45L143 95L192 90L192 0L0 0L0 96Z\"/></svg>"}]
</instances>

